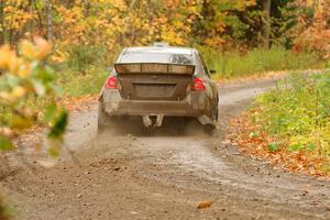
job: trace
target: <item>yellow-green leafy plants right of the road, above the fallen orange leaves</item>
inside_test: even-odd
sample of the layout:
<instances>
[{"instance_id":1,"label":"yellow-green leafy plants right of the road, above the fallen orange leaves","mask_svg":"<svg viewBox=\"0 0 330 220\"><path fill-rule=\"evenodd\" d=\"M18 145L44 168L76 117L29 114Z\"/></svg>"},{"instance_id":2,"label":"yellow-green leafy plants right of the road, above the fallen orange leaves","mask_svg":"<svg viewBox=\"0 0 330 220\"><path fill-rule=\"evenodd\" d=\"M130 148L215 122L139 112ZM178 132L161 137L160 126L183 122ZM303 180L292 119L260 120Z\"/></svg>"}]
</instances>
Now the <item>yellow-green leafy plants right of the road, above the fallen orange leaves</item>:
<instances>
[{"instance_id":1,"label":"yellow-green leafy plants right of the road, above the fallen orange leaves","mask_svg":"<svg viewBox=\"0 0 330 220\"><path fill-rule=\"evenodd\" d=\"M330 73L292 75L258 96L255 108L265 131L285 140L289 151L330 157Z\"/></svg>"}]
</instances>

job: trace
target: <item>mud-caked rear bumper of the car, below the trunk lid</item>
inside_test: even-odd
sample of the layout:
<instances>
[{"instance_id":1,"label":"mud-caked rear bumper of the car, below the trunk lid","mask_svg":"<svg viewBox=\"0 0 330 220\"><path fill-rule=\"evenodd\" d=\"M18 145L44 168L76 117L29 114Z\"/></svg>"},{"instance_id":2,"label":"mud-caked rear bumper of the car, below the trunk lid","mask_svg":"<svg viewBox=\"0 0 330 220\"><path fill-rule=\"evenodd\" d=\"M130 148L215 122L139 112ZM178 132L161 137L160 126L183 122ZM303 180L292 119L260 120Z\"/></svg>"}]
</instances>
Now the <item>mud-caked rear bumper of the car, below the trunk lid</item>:
<instances>
[{"instance_id":1,"label":"mud-caked rear bumper of the car, below the trunk lid","mask_svg":"<svg viewBox=\"0 0 330 220\"><path fill-rule=\"evenodd\" d=\"M200 95L198 95L200 96ZM194 97L194 98L193 98ZM128 100L122 99L116 90L103 92L101 103L103 111L110 116L173 116L199 118L205 114L201 97L188 95L185 100Z\"/></svg>"}]
</instances>

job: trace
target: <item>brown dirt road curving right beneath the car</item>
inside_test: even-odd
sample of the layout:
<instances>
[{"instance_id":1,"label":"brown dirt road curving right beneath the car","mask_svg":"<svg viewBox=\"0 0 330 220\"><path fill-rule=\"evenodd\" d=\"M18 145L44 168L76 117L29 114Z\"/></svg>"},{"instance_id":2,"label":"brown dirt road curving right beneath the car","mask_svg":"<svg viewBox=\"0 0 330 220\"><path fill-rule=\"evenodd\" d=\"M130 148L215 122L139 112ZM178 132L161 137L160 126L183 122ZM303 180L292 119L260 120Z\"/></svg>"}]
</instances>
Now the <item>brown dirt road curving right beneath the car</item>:
<instances>
[{"instance_id":1,"label":"brown dirt road curving right beneath the car","mask_svg":"<svg viewBox=\"0 0 330 220\"><path fill-rule=\"evenodd\" d=\"M96 138L96 108L76 113L66 143L79 163L64 155L52 168L12 165L1 190L24 220L330 219L328 182L274 170L223 140L228 120L273 84L221 87L212 138L173 120L154 132L121 127ZM197 209L200 201L212 205Z\"/></svg>"}]
</instances>

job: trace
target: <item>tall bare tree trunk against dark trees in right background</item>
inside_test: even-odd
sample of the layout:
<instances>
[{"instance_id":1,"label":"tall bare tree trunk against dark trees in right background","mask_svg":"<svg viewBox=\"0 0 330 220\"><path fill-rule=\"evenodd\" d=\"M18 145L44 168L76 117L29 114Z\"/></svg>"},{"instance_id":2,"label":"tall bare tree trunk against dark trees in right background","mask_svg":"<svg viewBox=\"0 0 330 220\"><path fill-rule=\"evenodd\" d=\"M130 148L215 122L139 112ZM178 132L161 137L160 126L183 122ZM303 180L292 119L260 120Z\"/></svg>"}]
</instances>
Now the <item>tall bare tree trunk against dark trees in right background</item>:
<instances>
[{"instance_id":1,"label":"tall bare tree trunk against dark trees in right background","mask_svg":"<svg viewBox=\"0 0 330 220\"><path fill-rule=\"evenodd\" d=\"M263 46L265 48L271 46L271 6L272 0L263 0Z\"/></svg>"}]
</instances>

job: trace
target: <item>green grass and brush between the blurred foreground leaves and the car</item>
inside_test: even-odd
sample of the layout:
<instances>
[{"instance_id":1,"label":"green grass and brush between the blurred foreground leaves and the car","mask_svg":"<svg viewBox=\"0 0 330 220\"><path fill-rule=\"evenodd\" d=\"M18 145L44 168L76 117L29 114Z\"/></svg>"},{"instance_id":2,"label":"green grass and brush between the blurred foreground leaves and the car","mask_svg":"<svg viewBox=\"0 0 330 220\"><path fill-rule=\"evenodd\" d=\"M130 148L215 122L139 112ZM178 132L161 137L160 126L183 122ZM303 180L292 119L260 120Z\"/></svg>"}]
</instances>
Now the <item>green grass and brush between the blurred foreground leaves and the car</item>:
<instances>
[{"instance_id":1,"label":"green grass and brush between the blurred foreground leaves and the car","mask_svg":"<svg viewBox=\"0 0 330 220\"><path fill-rule=\"evenodd\" d=\"M100 46L73 46L69 50L70 58L63 64L54 64L58 73L58 84L64 96L77 97L98 94L107 79L108 65L113 63L116 52L108 53Z\"/></svg>"}]
</instances>

